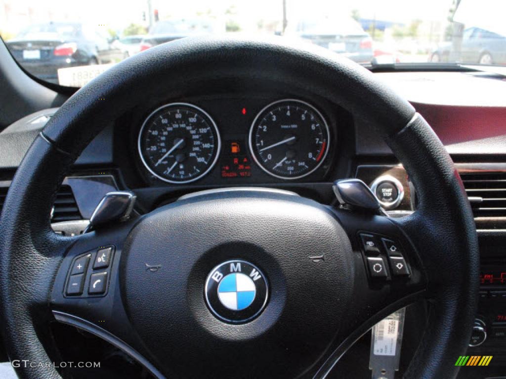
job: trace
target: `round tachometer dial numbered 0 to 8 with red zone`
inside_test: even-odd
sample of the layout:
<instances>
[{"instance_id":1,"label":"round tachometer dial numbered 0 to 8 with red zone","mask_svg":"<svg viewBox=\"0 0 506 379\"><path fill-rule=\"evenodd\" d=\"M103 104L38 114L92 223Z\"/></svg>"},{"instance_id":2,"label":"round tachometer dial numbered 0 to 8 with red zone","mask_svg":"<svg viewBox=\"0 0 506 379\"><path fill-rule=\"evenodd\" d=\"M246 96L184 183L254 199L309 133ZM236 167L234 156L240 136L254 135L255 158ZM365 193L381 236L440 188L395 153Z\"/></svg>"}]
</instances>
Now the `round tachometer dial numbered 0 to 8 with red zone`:
<instances>
[{"instance_id":1,"label":"round tachometer dial numbered 0 to 8 with red zone","mask_svg":"<svg viewBox=\"0 0 506 379\"><path fill-rule=\"evenodd\" d=\"M329 138L327 122L315 107L300 100L280 100L265 107L253 121L249 147L268 174L298 179L323 163Z\"/></svg>"}]
</instances>

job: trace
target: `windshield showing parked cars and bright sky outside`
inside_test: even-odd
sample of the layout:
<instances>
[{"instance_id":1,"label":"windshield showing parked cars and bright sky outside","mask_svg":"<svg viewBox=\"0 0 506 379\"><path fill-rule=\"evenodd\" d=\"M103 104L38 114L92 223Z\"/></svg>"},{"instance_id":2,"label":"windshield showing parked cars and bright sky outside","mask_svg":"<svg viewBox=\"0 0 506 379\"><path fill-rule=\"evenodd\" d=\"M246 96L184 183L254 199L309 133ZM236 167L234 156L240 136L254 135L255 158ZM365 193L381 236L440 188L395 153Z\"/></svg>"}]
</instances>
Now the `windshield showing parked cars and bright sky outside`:
<instances>
[{"instance_id":1,"label":"windshield showing parked cars and bright sky outside","mask_svg":"<svg viewBox=\"0 0 506 379\"><path fill-rule=\"evenodd\" d=\"M0 0L0 35L30 74L73 87L160 43L223 33L280 35L363 65L506 66L503 9L504 0Z\"/></svg>"}]
</instances>

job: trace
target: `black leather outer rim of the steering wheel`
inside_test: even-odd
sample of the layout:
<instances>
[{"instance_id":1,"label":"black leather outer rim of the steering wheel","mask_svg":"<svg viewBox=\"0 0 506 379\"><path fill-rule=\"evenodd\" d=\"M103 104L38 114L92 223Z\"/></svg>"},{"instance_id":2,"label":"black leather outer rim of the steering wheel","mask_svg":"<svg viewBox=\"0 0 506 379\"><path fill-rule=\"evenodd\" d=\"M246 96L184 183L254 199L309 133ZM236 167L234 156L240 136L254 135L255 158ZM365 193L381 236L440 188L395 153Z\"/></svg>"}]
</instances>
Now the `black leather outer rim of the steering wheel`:
<instances>
[{"instance_id":1,"label":"black leather outer rim of the steering wheel","mask_svg":"<svg viewBox=\"0 0 506 379\"><path fill-rule=\"evenodd\" d=\"M157 83L177 86L209 77L292 83L376 127L417 188L419 209L398 224L430 268L432 327L405 376L454 376L454 361L465 352L475 317L479 254L473 215L449 155L411 105L369 71L323 49L278 38L187 38L157 46L106 71L52 117L19 166L0 219L0 305L10 359L45 362L55 354L48 343L48 289L74 242L54 234L44 215L72 163L108 122L155 96ZM20 367L17 373L60 376L54 368L40 367Z\"/></svg>"}]
</instances>

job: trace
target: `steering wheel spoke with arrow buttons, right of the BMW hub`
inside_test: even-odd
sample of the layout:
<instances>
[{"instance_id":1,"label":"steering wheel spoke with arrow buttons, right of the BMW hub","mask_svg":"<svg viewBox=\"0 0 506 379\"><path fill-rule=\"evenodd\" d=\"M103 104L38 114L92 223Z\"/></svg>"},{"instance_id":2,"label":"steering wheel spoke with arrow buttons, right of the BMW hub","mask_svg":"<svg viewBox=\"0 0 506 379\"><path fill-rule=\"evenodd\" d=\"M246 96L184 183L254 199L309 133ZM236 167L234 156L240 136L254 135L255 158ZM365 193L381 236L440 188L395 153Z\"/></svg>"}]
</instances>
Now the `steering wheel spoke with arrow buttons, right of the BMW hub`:
<instances>
[{"instance_id":1,"label":"steering wheel spoke with arrow buttons, right of the BMW hub","mask_svg":"<svg viewBox=\"0 0 506 379\"><path fill-rule=\"evenodd\" d=\"M330 349L331 354L315 377L325 377L375 323L427 296L426 268L403 227L385 216L343 209L332 211L346 230L353 249L353 301L334 349Z\"/></svg>"}]
</instances>

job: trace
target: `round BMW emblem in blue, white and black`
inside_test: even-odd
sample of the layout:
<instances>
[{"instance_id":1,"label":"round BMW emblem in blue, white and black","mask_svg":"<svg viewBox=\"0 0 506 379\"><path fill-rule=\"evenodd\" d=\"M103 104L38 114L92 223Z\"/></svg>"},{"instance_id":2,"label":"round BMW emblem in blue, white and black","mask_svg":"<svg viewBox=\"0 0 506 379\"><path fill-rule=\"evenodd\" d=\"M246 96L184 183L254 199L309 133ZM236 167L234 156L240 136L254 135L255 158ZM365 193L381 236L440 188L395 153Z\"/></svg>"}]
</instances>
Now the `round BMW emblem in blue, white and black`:
<instances>
[{"instance_id":1,"label":"round BMW emblem in blue, white and black","mask_svg":"<svg viewBox=\"0 0 506 379\"><path fill-rule=\"evenodd\" d=\"M219 319L241 323L257 317L267 304L268 286L260 269L246 261L226 261L207 275L205 301Z\"/></svg>"}]
</instances>

